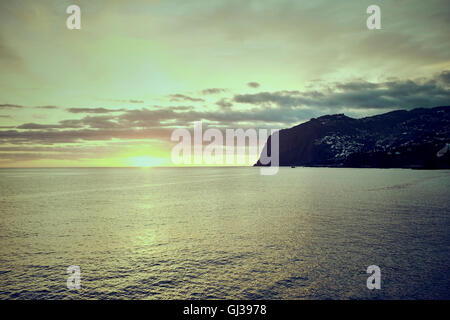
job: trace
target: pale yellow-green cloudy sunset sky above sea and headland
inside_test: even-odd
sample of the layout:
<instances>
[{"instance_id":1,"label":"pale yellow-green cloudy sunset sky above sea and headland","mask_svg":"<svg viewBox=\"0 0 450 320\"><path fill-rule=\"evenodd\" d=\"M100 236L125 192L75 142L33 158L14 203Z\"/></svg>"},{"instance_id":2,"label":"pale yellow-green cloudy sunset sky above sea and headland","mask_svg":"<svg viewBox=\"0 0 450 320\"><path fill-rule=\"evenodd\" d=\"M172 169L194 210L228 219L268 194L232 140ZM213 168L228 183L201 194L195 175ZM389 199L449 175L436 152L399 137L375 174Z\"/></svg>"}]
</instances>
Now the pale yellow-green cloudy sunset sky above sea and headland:
<instances>
[{"instance_id":1,"label":"pale yellow-green cloudy sunset sky above sea and headland","mask_svg":"<svg viewBox=\"0 0 450 320\"><path fill-rule=\"evenodd\" d=\"M448 0L4 0L0 26L0 167L170 166L195 121L450 105Z\"/></svg>"}]
</instances>

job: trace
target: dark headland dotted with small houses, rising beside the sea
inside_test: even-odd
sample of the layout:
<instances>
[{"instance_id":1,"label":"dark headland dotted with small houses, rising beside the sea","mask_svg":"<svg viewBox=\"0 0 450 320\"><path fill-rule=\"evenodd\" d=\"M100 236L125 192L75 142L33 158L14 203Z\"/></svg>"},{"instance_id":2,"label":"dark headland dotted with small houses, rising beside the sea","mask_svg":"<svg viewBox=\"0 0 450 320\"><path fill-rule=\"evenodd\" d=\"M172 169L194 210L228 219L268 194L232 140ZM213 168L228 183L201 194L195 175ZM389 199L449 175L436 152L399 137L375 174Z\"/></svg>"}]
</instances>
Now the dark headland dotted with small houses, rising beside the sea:
<instances>
[{"instance_id":1,"label":"dark headland dotted with small houses, rising beside the sea","mask_svg":"<svg viewBox=\"0 0 450 320\"><path fill-rule=\"evenodd\" d=\"M450 168L450 107L328 115L280 130L279 139L280 166Z\"/></svg>"}]
</instances>

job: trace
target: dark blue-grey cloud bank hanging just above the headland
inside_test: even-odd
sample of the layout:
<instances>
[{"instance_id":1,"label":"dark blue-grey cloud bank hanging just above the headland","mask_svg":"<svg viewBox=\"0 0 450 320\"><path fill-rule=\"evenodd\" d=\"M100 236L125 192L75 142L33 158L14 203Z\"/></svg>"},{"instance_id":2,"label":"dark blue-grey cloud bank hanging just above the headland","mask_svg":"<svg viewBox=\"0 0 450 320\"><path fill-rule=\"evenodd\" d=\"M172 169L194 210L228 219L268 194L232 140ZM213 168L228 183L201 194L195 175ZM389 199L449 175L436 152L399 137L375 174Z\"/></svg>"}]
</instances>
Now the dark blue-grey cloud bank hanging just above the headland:
<instances>
[{"instance_id":1,"label":"dark blue-grey cloud bank hanging just above the headland","mask_svg":"<svg viewBox=\"0 0 450 320\"><path fill-rule=\"evenodd\" d=\"M335 83L320 91L277 91L237 94L233 101L284 108L309 107L317 110L412 109L450 104L448 71L429 79L391 80L380 83L364 80ZM444 84L442 84L444 83Z\"/></svg>"}]
</instances>

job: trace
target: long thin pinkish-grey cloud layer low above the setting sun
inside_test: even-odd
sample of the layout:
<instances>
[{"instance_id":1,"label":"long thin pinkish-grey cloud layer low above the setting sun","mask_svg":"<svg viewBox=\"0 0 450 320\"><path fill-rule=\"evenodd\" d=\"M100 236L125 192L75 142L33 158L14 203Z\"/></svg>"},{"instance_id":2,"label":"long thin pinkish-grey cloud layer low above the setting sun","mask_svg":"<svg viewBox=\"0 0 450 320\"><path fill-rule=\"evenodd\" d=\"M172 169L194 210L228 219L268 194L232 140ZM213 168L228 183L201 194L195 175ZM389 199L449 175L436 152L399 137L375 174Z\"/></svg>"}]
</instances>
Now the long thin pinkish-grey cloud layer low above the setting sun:
<instances>
[{"instance_id":1,"label":"long thin pinkish-grey cloud layer low above the setting sun","mask_svg":"<svg viewBox=\"0 0 450 320\"><path fill-rule=\"evenodd\" d=\"M9 144L55 144L117 139L160 139L169 142L174 128L191 128L202 120L217 127L278 127L280 123L297 122L301 113L278 109L254 108L247 111L195 111L187 107L161 107L149 110L127 110L120 115L86 116L57 124L25 123L17 130L0 131L0 142ZM282 124L281 124L282 125ZM75 130L74 130L75 129Z\"/></svg>"}]
</instances>

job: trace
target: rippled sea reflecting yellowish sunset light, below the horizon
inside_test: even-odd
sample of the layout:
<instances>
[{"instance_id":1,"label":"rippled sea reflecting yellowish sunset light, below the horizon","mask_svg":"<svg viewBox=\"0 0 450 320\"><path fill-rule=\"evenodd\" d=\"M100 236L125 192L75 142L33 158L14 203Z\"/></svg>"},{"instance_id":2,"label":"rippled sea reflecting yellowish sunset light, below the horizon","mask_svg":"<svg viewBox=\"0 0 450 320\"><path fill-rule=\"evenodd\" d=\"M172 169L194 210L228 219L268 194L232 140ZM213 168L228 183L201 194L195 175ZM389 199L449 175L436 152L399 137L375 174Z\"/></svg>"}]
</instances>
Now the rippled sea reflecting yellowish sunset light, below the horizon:
<instances>
[{"instance_id":1,"label":"rippled sea reflecting yellowish sunset light, below the horizon","mask_svg":"<svg viewBox=\"0 0 450 320\"><path fill-rule=\"evenodd\" d=\"M0 298L450 299L449 191L448 170L0 169Z\"/></svg>"}]
</instances>

